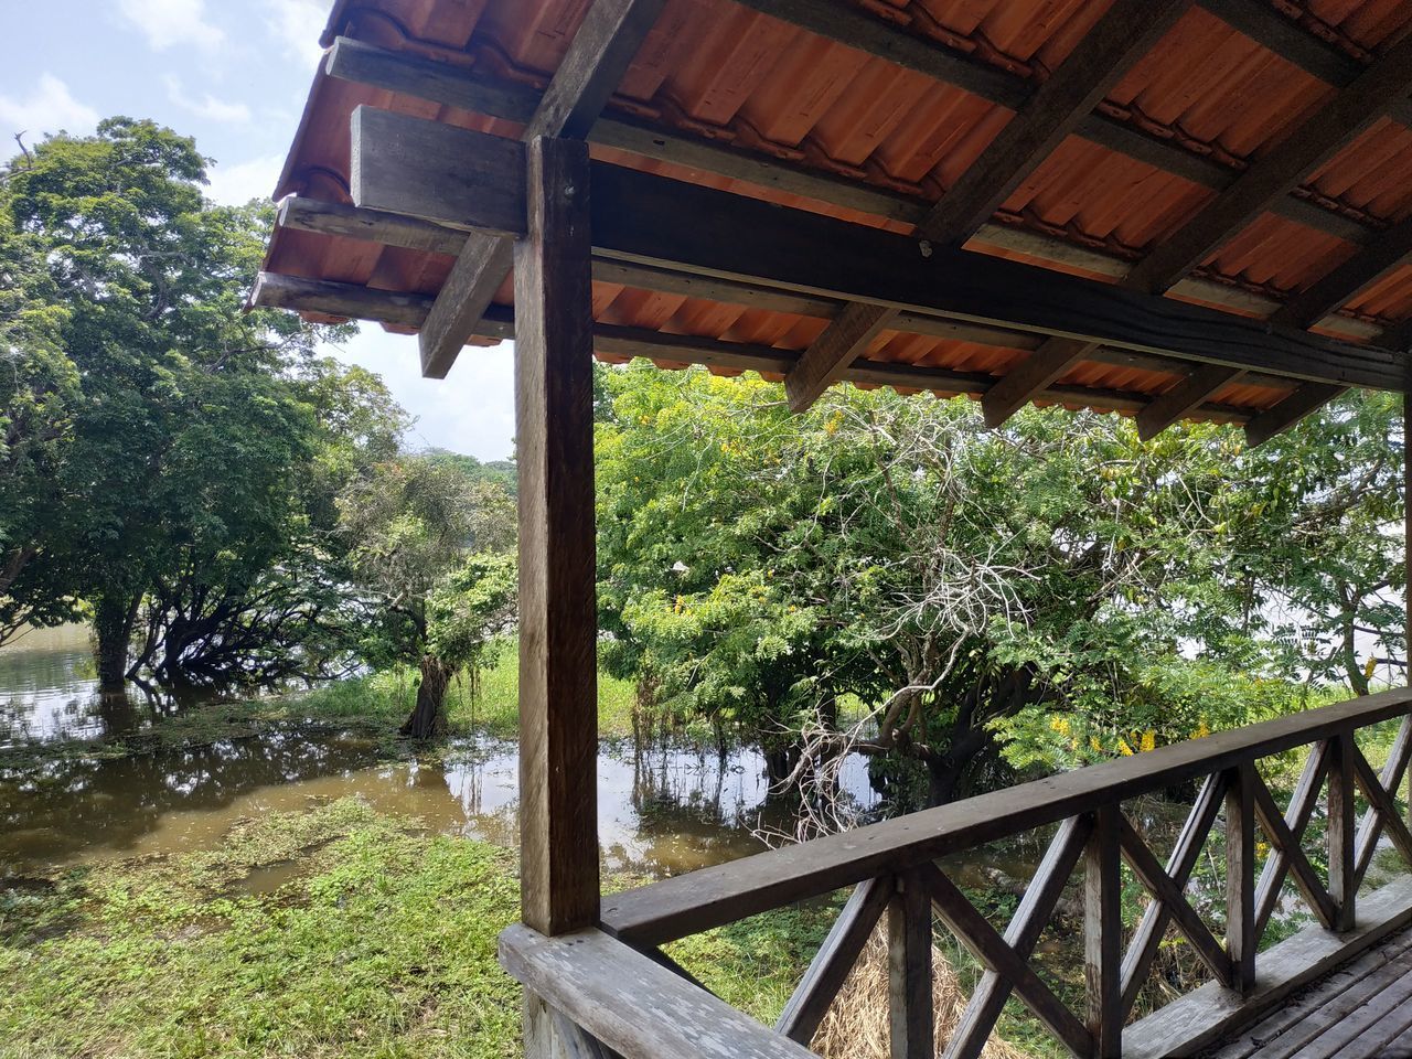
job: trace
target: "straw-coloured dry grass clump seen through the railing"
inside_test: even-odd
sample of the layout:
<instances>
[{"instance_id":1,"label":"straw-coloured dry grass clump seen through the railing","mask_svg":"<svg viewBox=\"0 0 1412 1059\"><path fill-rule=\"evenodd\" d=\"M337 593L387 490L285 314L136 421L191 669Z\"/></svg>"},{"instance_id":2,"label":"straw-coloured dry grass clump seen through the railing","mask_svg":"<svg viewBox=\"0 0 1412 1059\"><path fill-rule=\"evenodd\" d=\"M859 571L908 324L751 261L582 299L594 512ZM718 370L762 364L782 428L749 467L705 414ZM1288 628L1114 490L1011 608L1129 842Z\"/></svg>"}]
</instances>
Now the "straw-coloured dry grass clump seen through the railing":
<instances>
[{"instance_id":1,"label":"straw-coloured dry grass clump seen through the railing","mask_svg":"<svg viewBox=\"0 0 1412 1059\"><path fill-rule=\"evenodd\" d=\"M890 1059L887 939L873 932L857 966L825 1015L812 1049L825 1059ZM936 1051L940 1055L966 1010L966 993L952 964L932 947L932 1004L936 1012ZM1031 1059L994 1034L981 1059Z\"/></svg>"}]
</instances>

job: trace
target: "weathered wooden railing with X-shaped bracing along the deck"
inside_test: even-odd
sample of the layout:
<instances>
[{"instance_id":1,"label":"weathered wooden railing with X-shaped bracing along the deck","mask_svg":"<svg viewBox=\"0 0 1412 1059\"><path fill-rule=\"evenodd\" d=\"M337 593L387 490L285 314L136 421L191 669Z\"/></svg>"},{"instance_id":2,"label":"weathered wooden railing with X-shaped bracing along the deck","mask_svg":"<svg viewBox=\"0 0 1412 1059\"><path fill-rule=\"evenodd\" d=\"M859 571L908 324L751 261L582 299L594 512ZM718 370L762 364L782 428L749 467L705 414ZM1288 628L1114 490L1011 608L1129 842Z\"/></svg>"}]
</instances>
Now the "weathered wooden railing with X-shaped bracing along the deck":
<instances>
[{"instance_id":1,"label":"weathered wooden railing with X-shaped bracing along the deck","mask_svg":"<svg viewBox=\"0 0 1412 1059\"><path fill-rule=\"evenodd\" d=\"M1374 891L1361 908L1357 901L1384 834L1412 863L1412 833L1395 795L1412 757L1409 714L1412 692L1385 692L772 850L604 898L600 931L544 938L511 928L501 939L501 960L559 1012L563 1032L586 1053L607 1048L627 1059L805 1056L885 916L894 1059L931 1059L939 1048L947 1059L974 1059L1011 995L1075 1056L1190 1053L1412 923L1412 881ZM1387 762L1375 771L1354 734L1399 717ZM1257 762L1300 747L1309 754L1281 810ZM1124 813L1124 802L1193 781L1200 781L1200 794L1161 863ZM1360 795L1367 806L1361 819ZM1322 798L1326 878L1303 849ZM1224 938L1187 898L1219 818L1224 818ZM936 864L1053 825L1048 853L1004 933ZM1269 847L1258 875L1257 829ZM1121 918L1124 861L1151 897L1131 936ZM1076 1014L1031 957L1080 868L1086 1004ZM1317 926L1257 956L1286 878ZM850 885L851 897L774 1031L719 1001L659 949ZM946 1042L933 1041L932 1031L933 914L984 967ZM1125 1028L1169 925L1189 942L1210 981Z\"/></svg>"}]
</instances>

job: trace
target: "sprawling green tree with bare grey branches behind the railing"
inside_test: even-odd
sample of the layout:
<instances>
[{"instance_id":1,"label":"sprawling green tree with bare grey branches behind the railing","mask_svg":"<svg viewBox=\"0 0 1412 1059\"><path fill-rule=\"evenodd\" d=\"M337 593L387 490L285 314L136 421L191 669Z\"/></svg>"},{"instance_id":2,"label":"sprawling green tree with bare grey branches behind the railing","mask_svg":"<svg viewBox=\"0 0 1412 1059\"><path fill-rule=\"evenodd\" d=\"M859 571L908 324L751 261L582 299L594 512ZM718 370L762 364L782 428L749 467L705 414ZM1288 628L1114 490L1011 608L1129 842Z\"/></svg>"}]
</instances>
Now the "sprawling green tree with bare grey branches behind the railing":
<instances>
[{"instance_id":1,"label":"sprawling green tree with bare grey branches behind the railing","mask_svg":"<svg viewBox=\"0 0 1412 1059\"><path fill-rule=\"evenodd\" d=\"M1274 707L1337 661L1291 650L1292 624L1344 621L1336 600L1392 633L1360 602L1399 586L1384 398L1245 452L1062 409L993 432L971 402L885 391L791 417L778 387L703 371L600 385L607 658L762 740L777 774L853 748L919 764L942 801L997 743L1052 767ZM847 727L850 695L875 709Z\"/></svg>"}]
</instances>

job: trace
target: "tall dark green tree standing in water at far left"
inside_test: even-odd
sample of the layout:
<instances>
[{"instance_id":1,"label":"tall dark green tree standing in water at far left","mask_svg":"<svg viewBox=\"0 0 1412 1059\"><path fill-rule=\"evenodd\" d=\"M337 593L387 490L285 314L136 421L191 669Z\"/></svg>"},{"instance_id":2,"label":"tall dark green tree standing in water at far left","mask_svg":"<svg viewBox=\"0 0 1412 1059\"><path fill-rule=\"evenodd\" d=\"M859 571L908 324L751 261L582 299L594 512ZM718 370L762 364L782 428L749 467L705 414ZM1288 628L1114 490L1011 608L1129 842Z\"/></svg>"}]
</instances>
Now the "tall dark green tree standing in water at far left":
<instances>
[{"instance_id":1,"label":"tall dark green tree standing in water at far left","mask_svg":"<svg viewBox=\"0 0 1412 1059\"><path fill-rule=\"evenodd\" d=\"M205 167L189 138L116 117L23 152L0 188L4 268L24 278L6 308L31 380L21 412L62 421L64 448L27 457L49 463L14 508L31 555L8 606L45 618L83 600L107 686L134 671L144 604L138 665L171 681L244 669L241 599L287 561L319 448L318 380L298 380L313 330L244 306L268 210L210 205Z\"/></svg>"}]
</instances>

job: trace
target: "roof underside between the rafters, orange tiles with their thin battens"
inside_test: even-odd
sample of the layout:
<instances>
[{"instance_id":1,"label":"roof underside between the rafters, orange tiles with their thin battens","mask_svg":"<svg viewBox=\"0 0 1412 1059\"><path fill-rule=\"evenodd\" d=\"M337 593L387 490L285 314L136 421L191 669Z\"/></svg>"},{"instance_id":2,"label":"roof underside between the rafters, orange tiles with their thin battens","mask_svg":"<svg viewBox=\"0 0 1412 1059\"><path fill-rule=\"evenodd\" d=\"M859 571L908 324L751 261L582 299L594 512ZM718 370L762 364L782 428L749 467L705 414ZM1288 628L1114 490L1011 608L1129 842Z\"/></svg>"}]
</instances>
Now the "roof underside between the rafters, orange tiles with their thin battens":
<instances>
[{"instance_id":1,"label":"roof underside between the rafters, orange tiles with their thin battens","mask_svg":"<svg viewBox=\"0 0 1412 1059\"><path fill-rule=\"evenodd\" d=\"M277 198L350 205L350 120L370 106L517 138L563 59L590 0L345 0L323 44L370 45L429 61L484 90L390 90L321 66ZM945 201L1027 99L1108 10L1106 0L669 0L589 136L604 162L765 199L899 234ZM1111 86L1091 113L1025 175L964 249L1060 273L1121 282L1209 210L1305 123L1327 112L1412 27L1405 0L1202 0L1192 3ZM342 40L339 40L342 38ZM844 42L847 41L847 42ZM429 66L424 66L429 69ZM391 83L383 79L383 85ZM422 83L426 83L425 79ZM445 88L445 86L443 86ZM441 95L438 95L441 92ZM1018 117L1017 117L1018 114ZM517 120L518 119L518 120ZM1412 336L1412 100L1396 90L1346 143L1265 209L1234 226L1169 298L1404 352ZM709 150L707 150L709 148ZM733 175L727 175L733 174ZM754 176L743 179L741 175ZM289 213L282 215L288 220ZM710 223L710 219L700 219ZM1388 247L1392 247L1391 250ZM456 237L418 249L277 229L265 268L278 277L398 295L397 312L339 312L336 299L289 304L313 319L378 316L414 332L441 291ZM1381 257L1380 257L1381 254ZM1377 258L1370 263L1370 258ZM705 289L652 282L631 270L594 275L604 333L678 336L758 354L782 377L839 312L798 292ZM501 284L479 340L507 333L513 284ZM322 309L319 308L322 305ZM1279 313L1285 309L1285 316ZM1291 321L1291 313L1303 319ZM1024 364L1043 335L909 313L890 318L850 376L887 384L880 369L938 370L935 385L980 395ZM664 367L740 361L641 352ZM640 352L603 342L599 356ZM771 360L778 354L778 363ZM1039 404L1138 412L1199 364L1132 349L1087 350L1031 394ZM1230 373L1182 414L1247 422L1299 390L1276 373Z\"/></svg>"}]
</instances>

